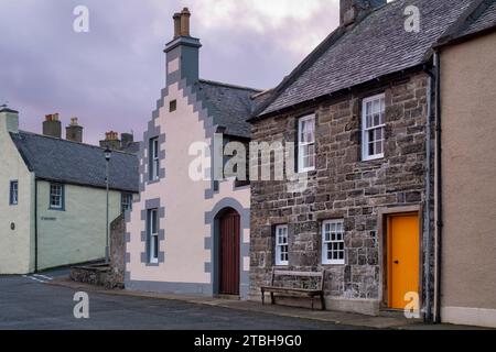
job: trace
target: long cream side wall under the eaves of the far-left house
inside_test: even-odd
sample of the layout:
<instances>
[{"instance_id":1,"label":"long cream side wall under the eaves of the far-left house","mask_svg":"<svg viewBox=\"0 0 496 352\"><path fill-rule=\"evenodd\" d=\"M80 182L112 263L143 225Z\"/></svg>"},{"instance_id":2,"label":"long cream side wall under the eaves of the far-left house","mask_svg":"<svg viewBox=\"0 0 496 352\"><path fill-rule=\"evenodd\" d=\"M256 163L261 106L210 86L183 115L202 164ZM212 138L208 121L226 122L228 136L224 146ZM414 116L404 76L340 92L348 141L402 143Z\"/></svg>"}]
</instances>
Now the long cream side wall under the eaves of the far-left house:
<instances>
[{"instance_id":1,"label":"long cream side wall under the eaves of the far-left house","mask_svg":"<svg viewBox=\"0 0 496 352\"><path fill-rule=\"evenodd\" d=\"M50 210L50 183L37 180L39 268L105 257L106 190L65 185L65 211ZM121 193L110 191L109 221L120 215Z\"/></svg>"}]
</instances>

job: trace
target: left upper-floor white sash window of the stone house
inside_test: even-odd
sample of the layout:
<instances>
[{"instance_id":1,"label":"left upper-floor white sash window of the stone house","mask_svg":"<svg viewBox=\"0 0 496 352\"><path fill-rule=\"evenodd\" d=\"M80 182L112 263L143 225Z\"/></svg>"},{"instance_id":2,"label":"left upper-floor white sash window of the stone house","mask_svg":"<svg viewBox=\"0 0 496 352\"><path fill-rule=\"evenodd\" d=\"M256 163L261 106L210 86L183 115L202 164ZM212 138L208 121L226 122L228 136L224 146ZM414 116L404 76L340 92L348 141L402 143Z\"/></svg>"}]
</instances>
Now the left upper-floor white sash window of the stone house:
<instances>
[{"instance_id":1,"label":"left upper-floor white sash window of the stone house","mask_svg":"<svg viewBox=\"0 0 496 352\"><path fill-rule=\"evenodd\" d=\"M298 121L298 170L315 169L315 117L309 116Z\"/></svg>"}]
</instances>

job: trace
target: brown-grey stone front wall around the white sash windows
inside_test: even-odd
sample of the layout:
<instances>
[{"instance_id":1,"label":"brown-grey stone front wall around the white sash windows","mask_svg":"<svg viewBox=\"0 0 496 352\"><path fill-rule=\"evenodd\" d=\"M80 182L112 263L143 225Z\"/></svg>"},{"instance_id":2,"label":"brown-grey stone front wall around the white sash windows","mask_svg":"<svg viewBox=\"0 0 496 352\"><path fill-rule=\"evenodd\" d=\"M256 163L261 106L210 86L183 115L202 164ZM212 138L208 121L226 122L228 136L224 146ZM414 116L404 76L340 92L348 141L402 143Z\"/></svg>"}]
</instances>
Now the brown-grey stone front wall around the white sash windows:
<instances>
[{"instance_id":1,"label":"brown-grey stone front wall around the white sash windows","mask_svg":"<svg viewBox=\"0 0 496 352\"><path fill-rule=\"evenodd\" d=\"M296 139L298 118L316 114L316 169L303 193L283 182L251 183L250 294L270 282L273 226L289 224L290 268L321 265L321 222L345 221L345 265L325 265L325 292L338 298L378 299L378 209L423 206L428 77L412 74L382 87L293 110L254 124L257 142ZM385 158L362 161L362 100L386 94ZM380 235L380 234L378 234Z\"/></svg>"}]
</instances>

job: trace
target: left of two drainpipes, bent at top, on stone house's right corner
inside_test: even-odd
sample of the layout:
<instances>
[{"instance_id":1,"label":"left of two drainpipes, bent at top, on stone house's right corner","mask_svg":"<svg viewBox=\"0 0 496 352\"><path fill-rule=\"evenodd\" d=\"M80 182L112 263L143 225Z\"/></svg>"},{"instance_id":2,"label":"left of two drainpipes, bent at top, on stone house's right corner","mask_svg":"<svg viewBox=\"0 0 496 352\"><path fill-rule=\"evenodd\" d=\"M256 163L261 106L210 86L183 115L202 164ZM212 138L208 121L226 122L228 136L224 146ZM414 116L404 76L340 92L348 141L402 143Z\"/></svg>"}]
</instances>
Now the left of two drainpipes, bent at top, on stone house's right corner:
<instances>
[{"instance_id":1,"label":"left of two drainpipes, bent at top, on stone house's right corner","mask_svg":"<svg viewBox=\"0 0 496 352\"><path fill-rule=\"evenodd\" d=\"M425 172L425 208L423 217L423 228L427 233L425 237L425 250L423 260L423 277L424 277L424 289L425 289L425 311L424 320L432 320L432 309L431 309L431 252L432 252L432 231L431 231L431 176L432 176L432 88L435 77L432 70L424 66L423 70L429 75L428 87L427 87L427 124L425 124L425 160L427 160L427 172Z\"/></svg>"}]
</instances>

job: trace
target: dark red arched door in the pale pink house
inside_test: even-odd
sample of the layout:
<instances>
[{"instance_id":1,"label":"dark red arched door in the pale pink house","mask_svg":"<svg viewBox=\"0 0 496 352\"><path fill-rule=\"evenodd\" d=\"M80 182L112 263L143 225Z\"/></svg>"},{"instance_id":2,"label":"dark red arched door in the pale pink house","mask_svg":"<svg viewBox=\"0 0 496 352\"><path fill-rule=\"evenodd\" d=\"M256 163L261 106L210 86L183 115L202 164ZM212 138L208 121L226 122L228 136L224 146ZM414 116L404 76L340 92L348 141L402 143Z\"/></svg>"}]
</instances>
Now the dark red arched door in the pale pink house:
<instances>
[{"instance_id":1,"label":"dark red arched door in the pale pink house","mask_svg":"<svg viewBox=\"0 0 496 352\"><path fill-rule=\"evenodd\" d=\"M239 215L229 210L220 218L222 295L239 295Z\"/></svg>"}]
</instances>

